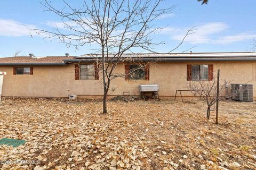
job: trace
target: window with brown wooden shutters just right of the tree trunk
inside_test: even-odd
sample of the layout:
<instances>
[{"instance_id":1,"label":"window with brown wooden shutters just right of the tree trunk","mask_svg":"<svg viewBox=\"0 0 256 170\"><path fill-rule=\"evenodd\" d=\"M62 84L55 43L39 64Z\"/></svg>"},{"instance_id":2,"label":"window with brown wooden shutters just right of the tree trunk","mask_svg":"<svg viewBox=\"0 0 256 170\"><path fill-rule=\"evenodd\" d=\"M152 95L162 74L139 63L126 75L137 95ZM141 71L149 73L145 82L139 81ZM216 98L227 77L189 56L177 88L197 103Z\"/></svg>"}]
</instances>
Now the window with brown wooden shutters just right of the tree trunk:
<instances>
[{"instance_id":1,"label":"window with brown wooden shutters just right of the tree trunk","mask_svg":"<svg viewBox=\"0 0 256 170\"><path fill-rule=\"evenodd\" d=\"M125 80L149 80L149 66L125 65Z\"/></svg>"}]
</instances>

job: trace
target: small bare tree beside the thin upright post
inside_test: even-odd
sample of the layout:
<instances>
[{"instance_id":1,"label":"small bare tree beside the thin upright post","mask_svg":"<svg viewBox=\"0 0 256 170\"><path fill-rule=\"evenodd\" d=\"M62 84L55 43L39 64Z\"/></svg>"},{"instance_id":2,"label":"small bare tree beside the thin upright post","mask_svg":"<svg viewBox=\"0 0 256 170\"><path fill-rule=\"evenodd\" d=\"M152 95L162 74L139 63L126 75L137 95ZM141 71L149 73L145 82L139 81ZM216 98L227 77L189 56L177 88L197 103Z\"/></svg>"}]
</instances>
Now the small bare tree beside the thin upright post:
<instances>
[{"instance_id":1,"label":"small bare tree beside the thin upright post","mask_svg":"<svg viewBox=\"0 0 256 170\"><path fill-rule=\"evenodd\" d=\"M229 84L226 80L222 80L219 84L219 94L217 91L217 75L214 75L211 81L208 80L200 80L199 75L195 79L195 81L190 80L188 82L188 89L192 92L192 94L199 100L205 101L207 104L207 112L206 117L210 118L211 107L219 100L227 99L233 97L235 94L227 94L226 86Z\"/></svg>"}]
</instances>

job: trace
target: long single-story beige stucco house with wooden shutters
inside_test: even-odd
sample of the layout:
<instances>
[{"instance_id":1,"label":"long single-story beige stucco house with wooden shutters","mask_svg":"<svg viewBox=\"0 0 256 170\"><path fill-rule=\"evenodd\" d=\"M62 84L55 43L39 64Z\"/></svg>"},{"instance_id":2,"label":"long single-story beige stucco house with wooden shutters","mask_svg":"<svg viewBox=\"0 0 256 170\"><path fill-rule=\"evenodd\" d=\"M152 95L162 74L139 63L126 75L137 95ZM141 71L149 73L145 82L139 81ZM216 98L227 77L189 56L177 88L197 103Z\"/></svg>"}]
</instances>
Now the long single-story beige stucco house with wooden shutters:
<instances>
[{"instance_id":1,"label":"long single-story beige stucco house with wooden shutters","mask_svg":"<svg viewBox=\"0 0 256 170\"><path fill-rule=\"evenodd\" d=\"M103 88L96 56L100 58L95 54L0 58L0 71L7 72L2 96L99 98ZM188 87L188 81L211 81L218 69L222 80L253 84L256 97L256 53L125 54L115 72L125 74L137 63L149 64L140 69L139 77L111 81L110 97L139 96L140 84L159 84L159 96L173 98L177 89ZM186 96L193 95L187 92Z\"/></svg>"}]
</instances>

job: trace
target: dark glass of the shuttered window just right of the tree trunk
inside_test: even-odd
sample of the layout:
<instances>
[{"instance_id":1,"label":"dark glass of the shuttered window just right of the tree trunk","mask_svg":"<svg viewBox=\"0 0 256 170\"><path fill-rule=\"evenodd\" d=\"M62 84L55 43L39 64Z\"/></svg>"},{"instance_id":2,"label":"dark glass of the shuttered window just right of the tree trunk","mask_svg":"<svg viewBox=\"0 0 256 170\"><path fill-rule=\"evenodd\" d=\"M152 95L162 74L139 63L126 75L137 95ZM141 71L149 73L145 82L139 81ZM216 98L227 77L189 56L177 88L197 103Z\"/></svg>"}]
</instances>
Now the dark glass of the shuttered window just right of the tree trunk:
<instances>
[{"instance_id":1,"label":"dark glass of the shuttered window just right of the tree trunk","mask_svg":"<svg viewBox=\"0 0 256 170\"><path fill-rule=\"evenodd\" d=\"M130 65L130 80L145 80L145 66Z\"/></svg>"}]
</instances>

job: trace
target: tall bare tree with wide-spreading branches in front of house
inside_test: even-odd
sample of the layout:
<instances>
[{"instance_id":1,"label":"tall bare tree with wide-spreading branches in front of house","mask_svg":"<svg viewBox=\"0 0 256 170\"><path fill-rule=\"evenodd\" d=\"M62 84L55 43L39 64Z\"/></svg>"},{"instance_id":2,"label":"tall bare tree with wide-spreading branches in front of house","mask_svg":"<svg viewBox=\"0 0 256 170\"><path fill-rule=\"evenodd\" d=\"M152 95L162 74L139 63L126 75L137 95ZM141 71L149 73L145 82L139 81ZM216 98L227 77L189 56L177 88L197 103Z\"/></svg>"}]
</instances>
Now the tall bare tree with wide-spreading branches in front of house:
<instances>
[{"instance_id":1,"label":"tall bare tree with wide-spreading branches in front of house","mask_svg":"<svg viewBox=\"0 0 256 170\"><path fill-rule=\"evenodd\" d=\"M58 9L45 0L42 5L46 11L57 14L66 29L63 30L56 25L52 31L36 29L36 33L47 35L46 38L57 37L62 43L75 48L86 44L97 46L94 51L99 55L92 56L102 71L103 113L107 113L110 81L123 76L114 73L117 64L124 61L123 55L139 49L154 52L154 45L164 44L162 41L154 43L150 38L152 33L161 29L155 28L153 21L162 14L171 13L175 7L161 8L162 1L84 0L80 7L71 6L63 1L65 7ZM193 29L188 30L185 37L191 31Z\"/></svg>"}]
</instances>

